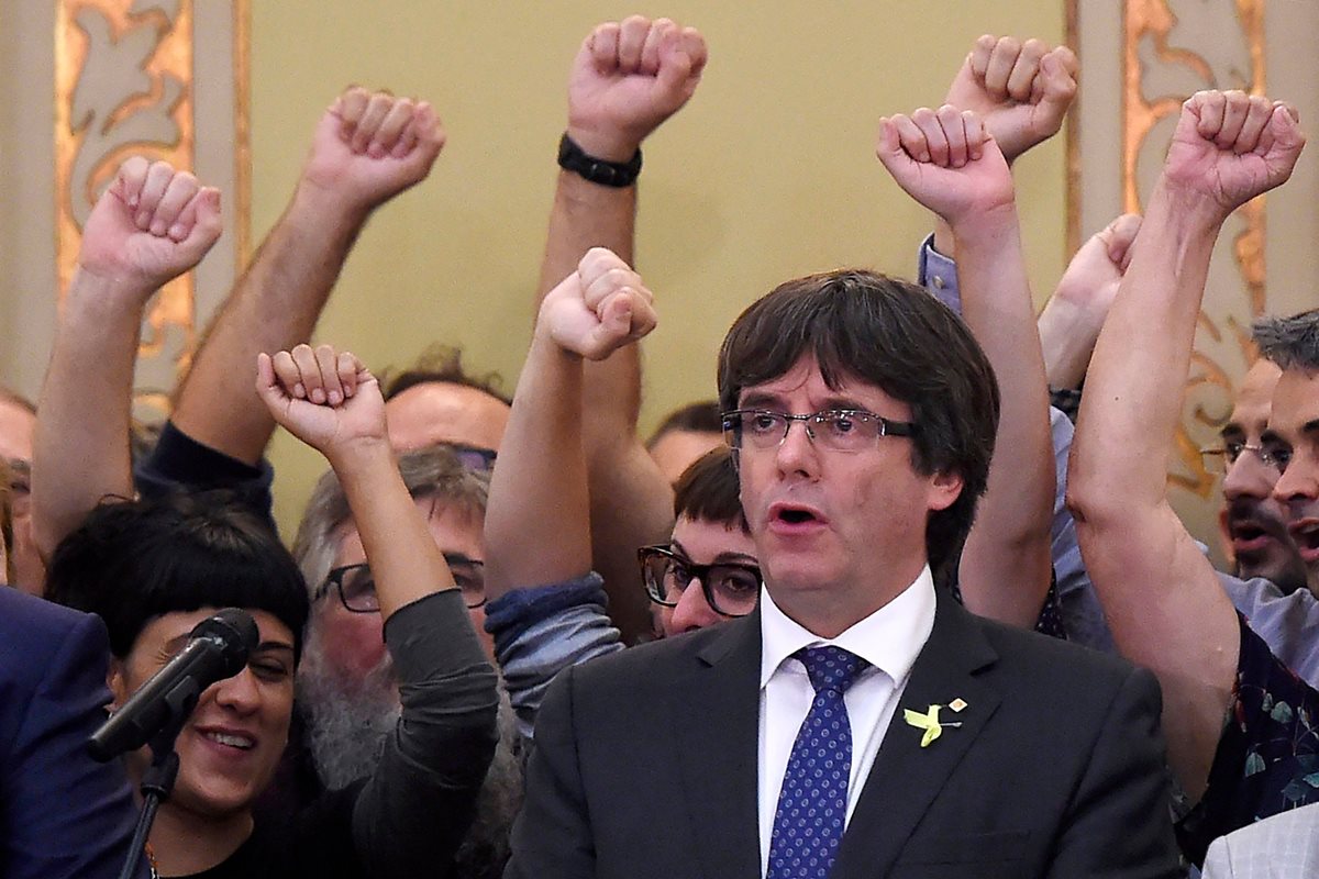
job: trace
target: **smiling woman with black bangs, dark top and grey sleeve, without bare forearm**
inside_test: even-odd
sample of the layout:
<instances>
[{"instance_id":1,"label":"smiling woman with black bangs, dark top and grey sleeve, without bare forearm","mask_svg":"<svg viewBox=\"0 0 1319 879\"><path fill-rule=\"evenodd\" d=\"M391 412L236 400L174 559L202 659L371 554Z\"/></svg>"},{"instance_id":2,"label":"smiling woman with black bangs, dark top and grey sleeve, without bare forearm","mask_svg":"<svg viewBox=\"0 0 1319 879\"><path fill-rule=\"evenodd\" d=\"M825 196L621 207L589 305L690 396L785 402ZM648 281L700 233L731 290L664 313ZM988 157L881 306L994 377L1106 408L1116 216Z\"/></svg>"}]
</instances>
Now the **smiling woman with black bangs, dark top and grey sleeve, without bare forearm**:
<instances>
[{"instance_id":1,"label":"smiling woman with black bangs, dark top and grey sleeve, without bare forearm","mask_svg":"<svg viewBox=\"0 0 1319 879\"><path fill-rule=\"evenodd\" d=\"M216 609L241 608L256 621L247 666L202 692L175 742L178 780L148 850L158 875L404 876L452 857L489 762L495 713L495 676L458 589L385 619L385 644L412 692L375 771L289 814L256 803L289 741L309 598L268 526L220 493L102 503L51 556L47 594L106 619L116 705ZM135 783L148 762L146 749L127 755ZM418 833L417 821L441 829Z\"/></svg>"}]
</instances>

